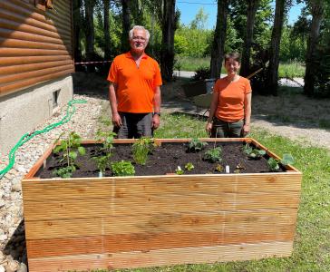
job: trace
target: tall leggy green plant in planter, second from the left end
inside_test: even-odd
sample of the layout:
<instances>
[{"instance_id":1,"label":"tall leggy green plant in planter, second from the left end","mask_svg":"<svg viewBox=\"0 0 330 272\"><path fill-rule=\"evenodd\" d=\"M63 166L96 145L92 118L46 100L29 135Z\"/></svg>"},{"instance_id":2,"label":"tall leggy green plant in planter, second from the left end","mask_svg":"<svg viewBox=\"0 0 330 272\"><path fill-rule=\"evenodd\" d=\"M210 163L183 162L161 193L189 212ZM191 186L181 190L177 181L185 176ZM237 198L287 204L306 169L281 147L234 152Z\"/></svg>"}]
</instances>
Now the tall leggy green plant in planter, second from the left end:
<instances>
[{"instance_id":1,"label":"tall leggy green plant in planter, second from the left end","mask_svg":"<svg viewBox=\"0 0 330 272\"><path fill-rule=\"evenodd\" d=\"M112 157L113 137L116 133L112 131L97 131L96 140L102 141L102 147L98 150L99 155L92 157L96 161L97 168L103 174L107 168L111 167L110 158ZM103 155L101 155L103 154Z\"/></svg>"}]
</instances>

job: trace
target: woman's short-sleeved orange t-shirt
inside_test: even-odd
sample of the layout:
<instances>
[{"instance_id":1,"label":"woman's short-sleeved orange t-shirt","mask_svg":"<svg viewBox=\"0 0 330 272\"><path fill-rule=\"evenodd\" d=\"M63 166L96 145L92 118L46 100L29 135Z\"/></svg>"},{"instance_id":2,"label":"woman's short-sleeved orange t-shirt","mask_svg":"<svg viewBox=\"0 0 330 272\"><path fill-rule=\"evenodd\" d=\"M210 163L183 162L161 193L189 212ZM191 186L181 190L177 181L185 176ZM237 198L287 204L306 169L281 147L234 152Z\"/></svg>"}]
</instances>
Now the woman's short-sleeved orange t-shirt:
<instances>
[{"instance_id":1,"label":"woman's short-sleeved orange t-shirt","mask_svg":"<svg viewBox=\"0 0 330 272\"><path fill-rule=\"evenodd\" d=\"M246 94L252 92L248 79L239 77L235 83L228 83L226 78L218 79L213 92L218 92L216 117L222 121L234 122L244 118Z\"/></svg>"}]
</instances>

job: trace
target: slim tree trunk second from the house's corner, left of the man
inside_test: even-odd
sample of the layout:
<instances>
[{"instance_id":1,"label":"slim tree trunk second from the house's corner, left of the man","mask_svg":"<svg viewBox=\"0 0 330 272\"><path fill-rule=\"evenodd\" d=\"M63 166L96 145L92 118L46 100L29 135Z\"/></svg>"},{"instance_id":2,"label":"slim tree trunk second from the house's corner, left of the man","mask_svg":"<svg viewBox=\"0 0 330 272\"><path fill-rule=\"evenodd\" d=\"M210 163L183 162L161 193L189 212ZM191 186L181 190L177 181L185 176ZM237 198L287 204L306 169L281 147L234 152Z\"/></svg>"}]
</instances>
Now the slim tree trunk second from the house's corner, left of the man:
<instances>
[{"instance_id":1,"label":"slim tree trunk second from the house's corner, left of the man","mask_svg":"<svg viewBox=\"0 0 330 272\"><path fill-rule=\"evenodd\" d=\"M92 62L95 56L94 52L94 0L84 0L85 3L85 34L86 34L86 59ZM88 72L94 72L93 65L87 65Z\"/></svg>"}]
</instances>

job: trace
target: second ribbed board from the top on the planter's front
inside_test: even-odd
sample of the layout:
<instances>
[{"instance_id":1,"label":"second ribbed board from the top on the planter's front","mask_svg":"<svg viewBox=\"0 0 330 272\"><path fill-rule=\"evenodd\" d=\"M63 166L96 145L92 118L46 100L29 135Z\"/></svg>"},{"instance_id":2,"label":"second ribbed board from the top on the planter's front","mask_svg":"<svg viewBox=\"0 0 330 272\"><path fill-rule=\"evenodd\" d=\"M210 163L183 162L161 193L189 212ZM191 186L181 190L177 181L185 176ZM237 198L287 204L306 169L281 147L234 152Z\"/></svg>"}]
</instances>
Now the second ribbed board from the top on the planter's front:
<instances>
[{"instance_id":1,"label":"second ribbed board from the top on the planter's front","mask_svg":"<svg viewBox=\"0 0 330 272\"><path fill-rule=\"evenodd\" d=\"M111 189L111 188L109 188ZM54 189L55 191L55 189ZM27 201L24 204L26 221L38 219L83 219L91 217L133 216L135 214L160 214L193 211L220 211L237 209L284 209L297 208L299 193L277 191L274 192L248 192L248 193L222 193L189 194L171 196L129 197L127 199L63 199ZM41 204L42 203L42 204ZM141 210L141 207L143 209ZM95 214L95 210L97 213Z\"/></svg>"}]
</instances>

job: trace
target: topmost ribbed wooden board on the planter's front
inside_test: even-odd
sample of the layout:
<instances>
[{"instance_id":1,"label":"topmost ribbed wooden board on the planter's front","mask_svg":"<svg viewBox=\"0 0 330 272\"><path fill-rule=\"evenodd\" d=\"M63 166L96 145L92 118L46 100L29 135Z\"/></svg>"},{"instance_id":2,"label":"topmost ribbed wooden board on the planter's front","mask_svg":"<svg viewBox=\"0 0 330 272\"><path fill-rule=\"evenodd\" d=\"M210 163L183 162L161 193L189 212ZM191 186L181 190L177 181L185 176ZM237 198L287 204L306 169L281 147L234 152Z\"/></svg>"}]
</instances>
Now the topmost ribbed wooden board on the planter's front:
<instances>
[{"instance_id":1,"label":"topmost ribbed wooden board on the planter's front","mask_svg":"<svg viewBox=\"0 0 330 272\"><path fill-rule=\"evenodd\" d=\"M189 175L157 177L136 177L131 184L130 178L104 178L81 179L79 182L47 180L46 184L41 180L31 180L26 184L29 189L28 200L44 199L85 199L85 198L114 198L122 199L127 196L137 195L158 195L164 193L208 193L210 195L223 192L243 191L268 191L274 189L280 191L300 191L300 177L295 173L263 173L263 174L228 174L224 175L221 184L218 182L218 175ZM234 181L233 181L234 180ZM224 186L225 184L225 186ZM57 195L48 188L56 188ZM112 188L110 191L109 188Z\"/></svg>"}]
</instances>

